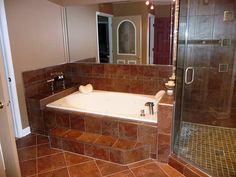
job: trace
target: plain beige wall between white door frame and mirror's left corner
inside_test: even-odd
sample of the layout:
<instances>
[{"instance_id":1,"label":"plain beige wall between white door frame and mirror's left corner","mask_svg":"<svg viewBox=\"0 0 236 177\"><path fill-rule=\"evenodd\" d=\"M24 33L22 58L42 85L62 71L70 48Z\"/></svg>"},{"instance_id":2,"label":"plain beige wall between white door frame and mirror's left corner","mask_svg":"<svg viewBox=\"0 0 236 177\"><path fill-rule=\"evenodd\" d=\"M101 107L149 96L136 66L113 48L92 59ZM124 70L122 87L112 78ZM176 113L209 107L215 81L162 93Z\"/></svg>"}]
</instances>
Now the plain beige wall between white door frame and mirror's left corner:
<instances>
[{"instance_id":1,"label":"plain beige wall between white door frame and mirror's left corner","mask_svg":"<svg viewBox=\"0 0 236 177\"><path fill-rule=\"evenodd\" d=\"M5 1L23 128L28 126L22 72L65 62L61 7L47 0Z\"/></svg>"}]
</instances>

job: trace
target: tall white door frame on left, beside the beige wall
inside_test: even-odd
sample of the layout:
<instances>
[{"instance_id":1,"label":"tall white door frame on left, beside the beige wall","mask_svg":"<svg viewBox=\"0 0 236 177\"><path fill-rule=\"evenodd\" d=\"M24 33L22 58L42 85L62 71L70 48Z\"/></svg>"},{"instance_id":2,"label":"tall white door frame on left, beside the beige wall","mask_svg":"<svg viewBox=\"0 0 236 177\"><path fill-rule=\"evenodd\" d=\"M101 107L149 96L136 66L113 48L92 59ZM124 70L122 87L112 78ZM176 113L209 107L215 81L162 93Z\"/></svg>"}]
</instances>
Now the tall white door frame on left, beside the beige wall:
<instances>
[{"instance_id":1,"label":"tall white door frame on left, beside the beige wall","mask_svg":"<svg viewBox=\"0 0 236 177\"><path fill-rule=\"evenodd\" d=\"M27 135L30 130L29 128L22 128L4 0L0 0L0 43L2 47L6 80L11 80L10 82L7 82L7 86L10 99L9 102L11 103L14 133L15 137L20 138Z\"/></svg>"}]
</instances>

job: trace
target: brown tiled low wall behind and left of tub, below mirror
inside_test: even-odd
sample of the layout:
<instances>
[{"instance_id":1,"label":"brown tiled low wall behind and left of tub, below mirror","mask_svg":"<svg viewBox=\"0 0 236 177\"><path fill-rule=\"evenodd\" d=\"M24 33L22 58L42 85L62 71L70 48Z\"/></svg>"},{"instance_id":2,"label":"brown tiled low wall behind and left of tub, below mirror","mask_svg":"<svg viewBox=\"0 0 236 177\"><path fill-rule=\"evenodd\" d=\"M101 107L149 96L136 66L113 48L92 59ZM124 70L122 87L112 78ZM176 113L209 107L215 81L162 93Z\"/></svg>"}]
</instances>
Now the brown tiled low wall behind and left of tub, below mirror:
<instances>
[{"instance_id":1,"label":"brown tiled low wall behind and left of tub, below mirror","mask_svg":"<svg viewBox=\"0 0 236 177\"><path fill-rule=\"evenodd\" d=\"M172 66L69 63L26 71L23 80L31 132L47 133L39 109L39 97L42 93L51 93L47 80L55 72L65 74L66 85L91 83L96 90L155 95L165 89L164 83L172 74Z\"/></svg>"}]
</instances>

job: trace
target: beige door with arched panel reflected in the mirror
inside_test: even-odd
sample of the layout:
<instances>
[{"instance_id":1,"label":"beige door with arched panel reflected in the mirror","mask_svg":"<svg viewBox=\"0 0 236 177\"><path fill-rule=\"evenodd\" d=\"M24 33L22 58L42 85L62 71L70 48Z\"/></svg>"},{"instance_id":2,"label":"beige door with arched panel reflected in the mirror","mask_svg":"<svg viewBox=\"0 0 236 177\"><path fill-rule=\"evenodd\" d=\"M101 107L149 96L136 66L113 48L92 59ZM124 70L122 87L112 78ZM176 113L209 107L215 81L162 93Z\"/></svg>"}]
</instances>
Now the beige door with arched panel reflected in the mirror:
<instances>
[{"instance_id":1,"label":"beige door with arched panel reflected in the mirror","mask_svg":"<svg viewBox=\"0 0 236 177\"><path fill-rule=\"evenodd\" d=\"M135 40L135 45L132 46L133 49L130 50L130 53L122 52L119 47L120 42L125 41L129 35L124 35L124 38L119 36L119 27L123 22L130 22L133 24L134 31L131 33L131 40ZM132 26L132 25L131 25ZM132 62L141 63L141 16L122 16L114 17L112 22L112 34L113 34L113 62L131 64ZM131 62L131 63L130 63Z\"/></svg>"}]
</instances>

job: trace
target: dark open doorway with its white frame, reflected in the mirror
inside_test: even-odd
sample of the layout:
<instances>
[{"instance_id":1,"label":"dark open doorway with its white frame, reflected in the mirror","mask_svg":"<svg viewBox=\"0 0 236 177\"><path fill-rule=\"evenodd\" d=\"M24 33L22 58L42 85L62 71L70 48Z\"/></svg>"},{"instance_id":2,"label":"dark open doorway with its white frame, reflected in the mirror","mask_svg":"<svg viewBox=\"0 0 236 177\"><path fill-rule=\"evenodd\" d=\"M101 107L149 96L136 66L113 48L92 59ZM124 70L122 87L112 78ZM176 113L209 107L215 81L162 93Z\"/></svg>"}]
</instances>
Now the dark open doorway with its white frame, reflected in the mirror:
<instances>
[{"instance_id":1,"label":"dark open doorway with its white frame, reflected in the mirror","mask_svg":"<svg viewBox=\"0 0 236 177\"><path fill-rule=\"evenodd\" d=\"M97 50L99 63L112 63L112 15L96 13Z\"/></svg>"}]
</instances>

